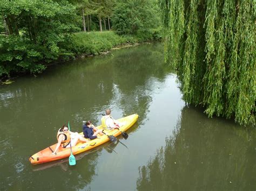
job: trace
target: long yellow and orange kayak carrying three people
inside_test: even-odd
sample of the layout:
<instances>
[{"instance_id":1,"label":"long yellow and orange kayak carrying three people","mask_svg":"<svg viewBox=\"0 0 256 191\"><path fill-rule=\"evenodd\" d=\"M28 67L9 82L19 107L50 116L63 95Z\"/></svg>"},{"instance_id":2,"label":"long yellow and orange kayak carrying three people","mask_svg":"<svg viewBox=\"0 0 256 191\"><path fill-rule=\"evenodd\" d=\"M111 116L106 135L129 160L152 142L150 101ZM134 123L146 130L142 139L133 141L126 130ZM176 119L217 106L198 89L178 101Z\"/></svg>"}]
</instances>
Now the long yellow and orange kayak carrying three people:
<instances>
[{"instance_id":1,"label":"long yellow and orange kayak carrying three people","mask_svg":"<svg viewBox=\"0 0 256 191\"><path fill-rule=\"evenodd\" d=\"M126 131L127 129L131 128L131 126L137 122L138 117L139 116L137 114L133 114L130 116L117 119L118 122L124 124L119 128L119 130L118 129L105 130L105 128L103 128L102 125L97 126L98 129L104 129L104 132L106 133L106 135L98 136L96 139L93 139L93 140L88 139L90 141L87 143L79 142L78 140L78 143L76 144L76 146L72 146L72 153L74 155L79 154L108 142L110 139L107 136L114 136L114 137L119 136L121 134L121 131ZM83 132L81 132L80 134L83 135ZM63 159L70 156L70 148L63 148L63 147L59 147L57 154L52 155L52 152L53 150L55 150L56 145L57 143L47 148L44 148L44 150L39 151L36 154L33 154L29 158L29 161L31 162L31 164L41 164L44 162L59 160L59 159Z\"/></svg>"}]
</instances>

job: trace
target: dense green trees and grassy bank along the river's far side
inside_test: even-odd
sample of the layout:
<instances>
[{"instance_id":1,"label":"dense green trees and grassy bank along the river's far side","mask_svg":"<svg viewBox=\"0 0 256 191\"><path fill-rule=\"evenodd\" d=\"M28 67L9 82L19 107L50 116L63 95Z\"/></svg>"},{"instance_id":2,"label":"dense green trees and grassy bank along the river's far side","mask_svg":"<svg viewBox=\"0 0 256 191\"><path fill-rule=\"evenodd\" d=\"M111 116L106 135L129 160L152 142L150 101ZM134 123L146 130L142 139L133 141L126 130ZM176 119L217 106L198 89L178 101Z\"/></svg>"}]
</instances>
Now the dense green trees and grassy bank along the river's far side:
<instances>
[{"instance_id":1,"label":"dense green trees and grassy bank along the river's far side","mask_svg":"<svg viewBox=\"0 0 256 191\"><path fill-rule=\"evenodd\" d=\"M3 0L0 77L37 74L79 54L159 39L159 12L157 0Z\"/></svg>"}]
</instances>

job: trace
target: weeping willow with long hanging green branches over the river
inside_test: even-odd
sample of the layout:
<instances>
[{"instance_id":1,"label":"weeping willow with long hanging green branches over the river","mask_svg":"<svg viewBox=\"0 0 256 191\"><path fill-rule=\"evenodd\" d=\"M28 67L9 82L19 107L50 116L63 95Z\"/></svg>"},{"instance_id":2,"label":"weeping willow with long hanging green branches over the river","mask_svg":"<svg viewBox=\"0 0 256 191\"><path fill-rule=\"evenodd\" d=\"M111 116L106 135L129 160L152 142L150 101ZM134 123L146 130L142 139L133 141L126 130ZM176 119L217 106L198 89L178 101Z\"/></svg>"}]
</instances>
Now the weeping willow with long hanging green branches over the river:
<instances>
[{"instance_id":1,"label":"weeping willow with long hanging green branches over the river","mask_svg":"<svg viewBox=\"0 0 256 191\"><path fill-rule=\"evenodd\" d=\"M242 125L255 124L255 2L159 0L185 102Z\"/></svg>"}]
</instances>

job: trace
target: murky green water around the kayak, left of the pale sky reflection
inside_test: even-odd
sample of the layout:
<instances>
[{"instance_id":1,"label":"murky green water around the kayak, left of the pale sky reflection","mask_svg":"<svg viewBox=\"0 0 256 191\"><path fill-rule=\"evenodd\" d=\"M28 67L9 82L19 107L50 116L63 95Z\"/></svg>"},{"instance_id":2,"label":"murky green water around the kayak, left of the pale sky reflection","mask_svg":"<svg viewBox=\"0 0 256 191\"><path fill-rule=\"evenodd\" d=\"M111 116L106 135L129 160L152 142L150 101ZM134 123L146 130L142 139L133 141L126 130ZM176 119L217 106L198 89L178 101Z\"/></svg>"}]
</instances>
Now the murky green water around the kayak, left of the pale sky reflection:
<instances>
[{"instance_id":1,"label":"murky green water around the kayak, left of the pale sky reflection","mask_svg":"<svg viewBox=\"0 0 256 191\"><path fill-rule=\"evenodd\" d=\"M170 76L162 51L160 44L121 49L1 86L0 189L90 189L100 155L116 154L117 145L80 155L75 167L65 160L31 166L29 155L56 143L56 131L67 121L72 131L81 131L83 120L99 124L106 108L116 118L136 112L145 119L152 94ZM127 132L136 129L138 124Z\"/></svg>"}]
</instances>

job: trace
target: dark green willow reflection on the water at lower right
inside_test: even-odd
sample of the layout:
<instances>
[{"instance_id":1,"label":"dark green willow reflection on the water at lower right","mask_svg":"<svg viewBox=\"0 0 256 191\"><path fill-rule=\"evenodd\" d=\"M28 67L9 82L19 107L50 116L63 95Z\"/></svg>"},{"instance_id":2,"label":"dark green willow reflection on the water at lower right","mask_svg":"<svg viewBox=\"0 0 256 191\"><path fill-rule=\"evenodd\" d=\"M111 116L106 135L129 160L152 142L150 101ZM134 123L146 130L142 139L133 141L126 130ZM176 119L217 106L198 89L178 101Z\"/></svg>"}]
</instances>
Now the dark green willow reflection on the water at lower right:
<instances>
[{"instance_id":1,"label":"dark green willow reflection on the water at lower right","mask_svg":"<svg viewBox=\"0 0 256 191\"><path fill-rule=\"evenodd\" d=\"M138 190L255 190L256 133L184 107L173 135L139 167Z\"/></svg>"}]
</instances>

